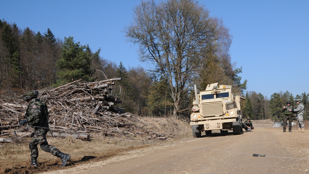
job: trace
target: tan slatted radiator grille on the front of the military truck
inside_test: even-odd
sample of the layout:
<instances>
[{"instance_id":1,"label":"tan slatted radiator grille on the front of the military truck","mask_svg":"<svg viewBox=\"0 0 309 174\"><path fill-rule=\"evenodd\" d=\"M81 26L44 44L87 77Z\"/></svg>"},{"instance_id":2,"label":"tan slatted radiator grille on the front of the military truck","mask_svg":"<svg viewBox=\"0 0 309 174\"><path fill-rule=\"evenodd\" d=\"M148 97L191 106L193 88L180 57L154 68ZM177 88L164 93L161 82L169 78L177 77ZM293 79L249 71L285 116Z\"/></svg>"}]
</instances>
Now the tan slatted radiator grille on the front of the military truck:
<instances>
[{"instance_id":1,"label":"tan slatted radiator grille on the front of the military truck","mask_svg":"<svg viewBox=\"0 0 309 174\"><path fill-rule=\"evenodd\" d=\"M223 114L222 102L202 103L203 117L221 116Z\"/></svg>"}]
</instances>

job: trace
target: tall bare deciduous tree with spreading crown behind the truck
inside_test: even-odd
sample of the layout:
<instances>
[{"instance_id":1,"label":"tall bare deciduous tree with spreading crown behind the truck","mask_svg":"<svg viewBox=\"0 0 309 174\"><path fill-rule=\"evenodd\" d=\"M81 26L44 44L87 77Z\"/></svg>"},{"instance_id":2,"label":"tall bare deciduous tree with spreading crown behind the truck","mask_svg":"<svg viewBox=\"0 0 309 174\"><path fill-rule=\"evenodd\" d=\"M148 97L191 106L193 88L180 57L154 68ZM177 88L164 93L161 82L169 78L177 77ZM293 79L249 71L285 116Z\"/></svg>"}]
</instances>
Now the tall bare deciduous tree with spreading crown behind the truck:
<instances>
[{"instance_id":1,"label":"tall bare deciduous tree with spreading crown behind the truck","mask_svg":"<svg viewBox=\"0 0 309 174\"><path fill-rule=\"evenodd\" d=\"M217 37L209 11L191 0L142 1L124 32L139 45L140 60L152 64L157 77L167 79L176 117L188 82Z\"/></svg>"}]
</instances>

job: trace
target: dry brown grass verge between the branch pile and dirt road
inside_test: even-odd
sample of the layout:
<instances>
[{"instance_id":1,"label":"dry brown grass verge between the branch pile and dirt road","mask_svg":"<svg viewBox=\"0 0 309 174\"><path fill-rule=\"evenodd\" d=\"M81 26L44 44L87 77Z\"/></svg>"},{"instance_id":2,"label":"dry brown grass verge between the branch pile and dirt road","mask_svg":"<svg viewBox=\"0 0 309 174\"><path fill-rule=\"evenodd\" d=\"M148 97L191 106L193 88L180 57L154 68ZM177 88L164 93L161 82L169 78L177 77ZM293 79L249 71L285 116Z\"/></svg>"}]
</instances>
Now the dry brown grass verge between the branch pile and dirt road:
<instances>
[{"instance_id":1,"label":"dry brown grass verge between the branch pile and dirt road","mask_svg":"<svg viewBox=\"0 0 309 174\"><path fill-rule=\"evenodd\" d=\"M175 141L192 138L192 130L188 121L172 118L140 118L147 130L164 134L167 140L149 140L149 135L137 134L123 138L109 138L103 135L91 135L91 141L86 142L73 137L47 138L50 145L60 151L70 154L71 159L66 168L81 163L89 163L121 155L130 150L147 146L156 146L158 143L168 144ZM39 173L60 169L59 158L44 152L39 148L38 168L30 166L29 142L31 138L19 139L13 143L0 143L0 173ZM147 143L150 142L150 143Z\"/></svg>"}]
</instances>

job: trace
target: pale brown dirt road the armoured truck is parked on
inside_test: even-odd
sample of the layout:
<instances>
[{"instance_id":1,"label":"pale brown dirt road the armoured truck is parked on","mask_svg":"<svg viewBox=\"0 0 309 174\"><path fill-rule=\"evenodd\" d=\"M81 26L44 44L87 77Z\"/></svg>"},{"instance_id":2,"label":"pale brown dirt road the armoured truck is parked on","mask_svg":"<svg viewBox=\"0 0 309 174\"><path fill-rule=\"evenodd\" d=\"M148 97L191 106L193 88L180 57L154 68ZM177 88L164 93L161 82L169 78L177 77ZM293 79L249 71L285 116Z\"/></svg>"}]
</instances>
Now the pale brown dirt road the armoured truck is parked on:
<instances>
[{"instance_id":1,"label":"pale brown dirt road the armoured truck is parked on","mask_svg":"<svg viewBox=\"0 0 309 174\"><path fill-rule=\"evenodd\" d=\"M309 173L308 140L309 131L283 133L281 128L217 133L53 173Z\"/></svg>"}]
</instances>

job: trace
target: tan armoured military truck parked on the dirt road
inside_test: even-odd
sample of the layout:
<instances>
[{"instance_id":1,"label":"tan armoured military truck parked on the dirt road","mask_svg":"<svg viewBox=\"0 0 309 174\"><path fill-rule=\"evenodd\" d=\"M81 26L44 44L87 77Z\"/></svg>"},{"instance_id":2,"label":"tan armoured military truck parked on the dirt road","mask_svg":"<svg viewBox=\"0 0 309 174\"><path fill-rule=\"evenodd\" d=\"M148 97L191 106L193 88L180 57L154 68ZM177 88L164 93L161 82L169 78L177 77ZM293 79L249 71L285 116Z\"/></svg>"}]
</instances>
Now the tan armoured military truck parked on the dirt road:
<instances>
[{"instance_id":1,"label":"tan armoured military truck parked on the dirt road","mask_svg":"<svg viewBox=\"0 0 309 174\"><path fill-rule=\"evenodd\" d=\"M242 112L238 93L232 92L231 85L208 84L205 91L197 94L194 85L195 99L193 100L193 113L191 122L193 137L201 137L201 132L211 134L212 130L226 132L233 129L233 134L243 132Z\"/></svg>"}]
</instances>

